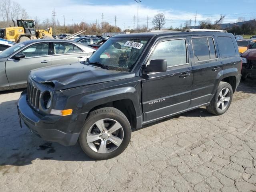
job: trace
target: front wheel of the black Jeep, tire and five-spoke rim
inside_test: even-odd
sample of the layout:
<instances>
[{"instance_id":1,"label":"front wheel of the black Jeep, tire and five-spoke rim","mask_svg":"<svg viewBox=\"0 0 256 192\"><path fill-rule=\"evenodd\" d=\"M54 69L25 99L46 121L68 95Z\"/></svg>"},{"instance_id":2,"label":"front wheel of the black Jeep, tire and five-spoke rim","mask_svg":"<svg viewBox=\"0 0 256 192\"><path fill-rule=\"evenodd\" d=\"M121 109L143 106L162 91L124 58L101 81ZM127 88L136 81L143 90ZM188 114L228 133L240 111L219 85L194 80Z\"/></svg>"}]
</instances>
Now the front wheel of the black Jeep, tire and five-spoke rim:
<instances>
[{"instance_id":1,"label":"front wheel of the black Jeep, tire and five-spoke rim","mask_svg":"<svg viewBox=\"0 0 256 192\"><path fill-rule=\"evenodd\" d=\"M110 159L121 154L131 138L126 116L113 107L90 112L80 133L82 150L95 160Z\"/></svg>"}]
</instances>

